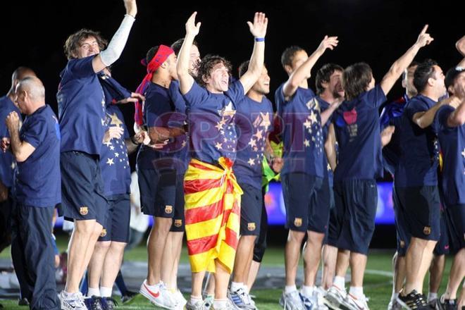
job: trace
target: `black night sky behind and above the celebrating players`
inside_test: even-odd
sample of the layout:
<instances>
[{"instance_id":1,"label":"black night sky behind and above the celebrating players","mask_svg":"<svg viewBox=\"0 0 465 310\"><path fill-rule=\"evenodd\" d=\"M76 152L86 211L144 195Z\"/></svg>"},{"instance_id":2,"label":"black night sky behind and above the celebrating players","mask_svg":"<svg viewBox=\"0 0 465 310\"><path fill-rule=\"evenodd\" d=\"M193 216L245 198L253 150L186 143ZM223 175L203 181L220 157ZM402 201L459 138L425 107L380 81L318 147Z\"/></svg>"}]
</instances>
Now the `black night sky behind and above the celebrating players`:
<instances>
[{"instance_id":1,"label":"black night sky behind and above the celebrating players","mask_svg":"<svg viewBox=\"0 0 465 310\"><path fill-rule=\"evenodd\" d=\"M202 22L197 36L200 53L219 54L237 68L252 53L253 39L246 21L255 11L266 13L269 23L266 35L265 61L271 76L271 94L287 78L280 65L280 55L290 45L299 45L311 54L325 35L337 35L339 46L327 50L318 60L313 73L324 63L345 67L366 61L377 81L404 51L414 44L423 25L435 39L421 49L417 61L433 58L446 71L461 57L454 47L465 35L464 18L457 6L461 1L149 1L138 0L138 13L128 43L113 65L113 77L135 90L144 77L140 65L151 46L170 45L185 35L185 21L198 11ZM463 4L463 3L462 3ZM94 1L2 1L0 20L0 94L11 85L11 73L18 66L29 66L44 82L46 101L57 111L56 89L60 71L66 66L63 44L71 33L82 27L98 30L108 40L120 25L125 8L121 0ZM237 72L234 70L234 72ZM310 85L314 89L314 78ZM388 95L402 95L400 82ZM134 107L123 107L128 128L132 128ZM134 157L134 156L132 156ZM134 159L132 159L134 162ZM387 229L388 242L394 245L391 228L377 229L373 242ZM381 233L381 234L380 234ZM378 241L377 241L378 240Z\"/></svg>"}]
</instances>

